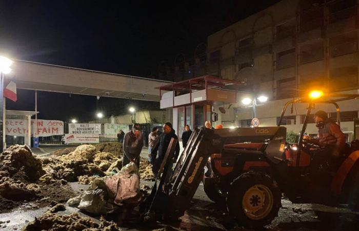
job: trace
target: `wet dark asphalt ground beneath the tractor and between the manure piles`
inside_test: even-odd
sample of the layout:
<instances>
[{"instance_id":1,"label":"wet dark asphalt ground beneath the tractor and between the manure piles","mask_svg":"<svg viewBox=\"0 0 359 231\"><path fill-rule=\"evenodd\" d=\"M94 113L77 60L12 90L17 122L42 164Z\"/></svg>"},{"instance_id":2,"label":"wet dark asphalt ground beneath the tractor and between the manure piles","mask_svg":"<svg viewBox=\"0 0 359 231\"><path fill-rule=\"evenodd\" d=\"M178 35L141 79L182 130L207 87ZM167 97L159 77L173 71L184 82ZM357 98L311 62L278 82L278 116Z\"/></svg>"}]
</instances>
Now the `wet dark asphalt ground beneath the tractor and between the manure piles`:
<instances>
[{"instance_id":1,"label":"wet dark asphalt ground beneath the tractor and between the manure piles","mask_svg":"<svg viewBox=\"0 0 359 231\"><path fill-rule=\"evenodd\" d=\"M35 153L47 153L57 148L48 147L42 150L34 150ZM63 148L63 147L60 147ZM143 157L147 155L147 150L142 152ZM153 185L153 182L142 181L141 185ZM74 190L85 190L88 185L71 183ZM0 230L21 230L29 221L35 217L41 216L47 208L38 208L29 210L24 207L17 208L9 213L0 214L1 221L10 221L0 224ZM80 213L85 215L77 208L68 207L61 213ZM97 218L92 218L96 221ZM6 225L6 227L4 227ZM173 223L146 223L137 222L124 224L121 226L124 230L152 230L157 228L166 228L167 230L252 230L238 226L227 214L225 208L218 207L212 203L205 195L203 185L201 184L191 202L191 208L188 209L178 222ZM272 224L259 230L359 230L359 213L352 213L349 209L343 207L327 207L317 204L293 204L289 200L282 199L282 208L278 217Z\"/></svg>"}]
</instances>

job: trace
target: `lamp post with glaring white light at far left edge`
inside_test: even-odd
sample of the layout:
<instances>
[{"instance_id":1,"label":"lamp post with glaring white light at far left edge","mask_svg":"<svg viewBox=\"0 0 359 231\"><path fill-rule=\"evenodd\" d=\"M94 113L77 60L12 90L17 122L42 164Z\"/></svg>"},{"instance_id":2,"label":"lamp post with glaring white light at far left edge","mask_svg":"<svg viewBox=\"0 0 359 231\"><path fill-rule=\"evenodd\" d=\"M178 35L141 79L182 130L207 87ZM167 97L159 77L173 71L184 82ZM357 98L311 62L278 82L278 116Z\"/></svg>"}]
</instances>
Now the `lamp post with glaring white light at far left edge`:
<instances>
[{"instance_id":1,"label":"lamp post with glaring white light at far left edge","mask_svg":"<svg viewBox=\"0 0 359 231\"><path fill-rule=\"evenodd\" d=\"M13 61L8 59L7 57L0 56L0 152L3 152L5 147L5 134L4 134L4 74L8 74L11 72L10 66Z\"/></svg>"}]
</instances>

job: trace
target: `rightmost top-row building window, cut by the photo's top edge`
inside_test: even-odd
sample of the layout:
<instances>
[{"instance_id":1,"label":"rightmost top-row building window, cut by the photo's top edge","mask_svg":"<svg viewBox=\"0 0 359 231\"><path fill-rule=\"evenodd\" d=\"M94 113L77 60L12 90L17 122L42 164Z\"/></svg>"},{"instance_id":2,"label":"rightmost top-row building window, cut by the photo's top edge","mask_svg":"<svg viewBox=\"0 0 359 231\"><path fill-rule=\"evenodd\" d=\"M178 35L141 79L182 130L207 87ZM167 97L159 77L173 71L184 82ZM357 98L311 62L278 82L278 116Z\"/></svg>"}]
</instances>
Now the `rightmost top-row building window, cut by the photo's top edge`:
<instances>
[{"instance_id":1,"label":"rightmost top-row building window, cut by the photo's top edge","mask_svg":"<svg viewBox=\"0 0 359 231\"><path fill-rule=\"evenodd\" d=\"M356 14L356 0L337 1L329 5L329 23L345 20Z\"/></svg>"}]
</instances>

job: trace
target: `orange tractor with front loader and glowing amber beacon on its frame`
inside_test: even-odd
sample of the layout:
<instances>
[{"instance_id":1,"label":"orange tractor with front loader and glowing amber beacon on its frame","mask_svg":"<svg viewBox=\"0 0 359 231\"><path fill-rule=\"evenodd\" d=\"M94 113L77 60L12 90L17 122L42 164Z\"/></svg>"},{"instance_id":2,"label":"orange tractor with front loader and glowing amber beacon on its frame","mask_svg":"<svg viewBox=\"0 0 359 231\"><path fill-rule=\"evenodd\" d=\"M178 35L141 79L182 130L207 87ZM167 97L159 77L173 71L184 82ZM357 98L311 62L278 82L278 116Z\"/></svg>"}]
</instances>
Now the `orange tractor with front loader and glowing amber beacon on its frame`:
<instances>
[{"instance_id":1,"label":"orange tractor with front loader and glowing amber beacon on its frame","mask_svg":"<svg viewBox=\"0 0 359 231\"><path fill-rule=\"evenodd\" d=\"M285 104L278 126L206 129L194 131L172 169L173 147L161 181L149 197L149 211L176 218L189 208L201 181L214 202L226 204L230 215L243 226L269 224L281 207L282 192L292 202L349 204L359 210L359 147L347 144L339 158L311 164L320 147L304 142L308 119L316 104L332 104L340 123L337 102L359 99L358 94L330 94L316 99L295 99ZM287 107L308 104L306 117L296 144L286 142L286 127L279 126ZM209 171L203 173L207 162ZM208 164L207 164L208 165Z\"/></svg>"}]
</instances>

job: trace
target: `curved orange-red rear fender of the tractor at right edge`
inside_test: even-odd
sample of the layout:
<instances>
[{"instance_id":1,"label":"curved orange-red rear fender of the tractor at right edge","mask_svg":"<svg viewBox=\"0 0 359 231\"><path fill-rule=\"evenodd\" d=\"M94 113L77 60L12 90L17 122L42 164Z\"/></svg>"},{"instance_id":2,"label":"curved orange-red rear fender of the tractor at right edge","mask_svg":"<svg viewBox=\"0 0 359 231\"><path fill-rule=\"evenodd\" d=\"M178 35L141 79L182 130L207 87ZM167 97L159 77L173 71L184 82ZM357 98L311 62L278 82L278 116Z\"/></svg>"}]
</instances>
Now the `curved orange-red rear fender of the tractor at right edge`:
<instances>
[{"instance_id":1,"label":"curved orange-red rear fender of the tractor at right edge","mask_svg":"<svg viewBox=\"0 0 359 231\"><path fill-rule=\"evenodd\" d=\"M341 194L344 182L347 179L347 176L350 170L353 168L354 164L359 161L358 159L359 150L353 151L340 166L330 186L330 191L333 192L333 194L337 196Z\"/></svg>"}]
</instances>

